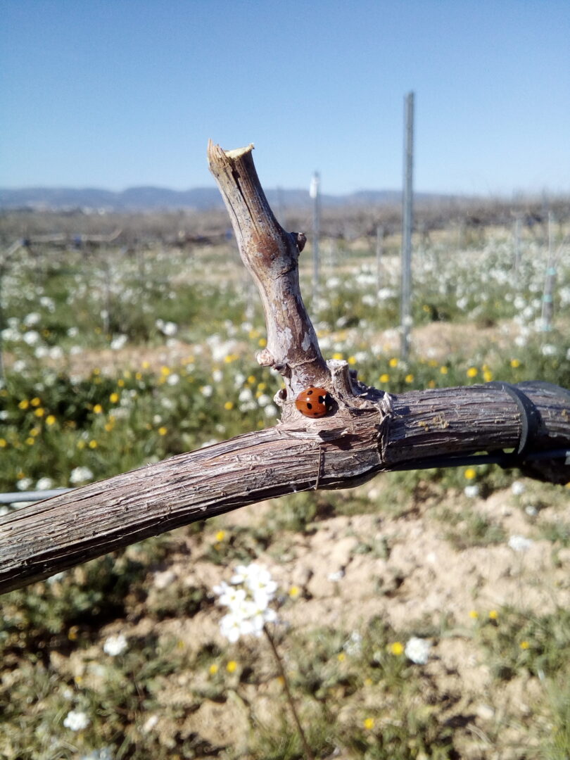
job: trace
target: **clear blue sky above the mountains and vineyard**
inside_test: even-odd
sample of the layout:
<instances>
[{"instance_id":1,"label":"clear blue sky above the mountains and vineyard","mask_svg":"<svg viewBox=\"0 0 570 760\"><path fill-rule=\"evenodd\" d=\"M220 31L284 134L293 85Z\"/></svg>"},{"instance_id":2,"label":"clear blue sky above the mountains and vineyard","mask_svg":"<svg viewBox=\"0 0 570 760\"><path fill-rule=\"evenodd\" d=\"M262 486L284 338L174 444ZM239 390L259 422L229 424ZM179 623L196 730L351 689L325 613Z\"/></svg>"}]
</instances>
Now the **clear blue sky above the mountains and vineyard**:
<instances>
[{"instance_id":1,"label":"clear blue sky above the mountains and vineyard","mask_svg":"<svg viewBox=\"0 0 570 760\"><path fill-rule=\"evenodd\" d=\"M2 0L0 186L570 192L568 0Z\"/></svg>"}]
</instances>

